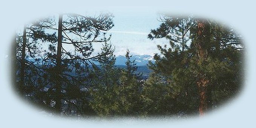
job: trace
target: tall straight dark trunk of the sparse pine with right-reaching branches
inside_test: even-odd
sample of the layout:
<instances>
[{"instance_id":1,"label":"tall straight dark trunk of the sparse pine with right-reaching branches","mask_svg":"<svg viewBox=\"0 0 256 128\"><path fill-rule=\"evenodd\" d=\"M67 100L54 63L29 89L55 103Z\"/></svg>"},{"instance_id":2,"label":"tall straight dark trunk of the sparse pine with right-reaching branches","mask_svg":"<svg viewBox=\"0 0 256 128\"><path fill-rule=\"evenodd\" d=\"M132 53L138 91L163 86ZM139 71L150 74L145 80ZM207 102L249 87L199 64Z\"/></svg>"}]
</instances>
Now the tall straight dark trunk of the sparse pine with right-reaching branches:
<instances>
[{"instance_id":1,"label":"tall straight dark trunk of the sparse pine with right-reaching branches","mask_svg":"<svg viewBox=\"0 0 256 128\"><path fill-rule=\"evenodd\" d=\"M61 47L62 47L62 14L59 15L58 21L58 46L56 57L56 101L55 110L61 114Z\"/></svg>"}]
</instances>

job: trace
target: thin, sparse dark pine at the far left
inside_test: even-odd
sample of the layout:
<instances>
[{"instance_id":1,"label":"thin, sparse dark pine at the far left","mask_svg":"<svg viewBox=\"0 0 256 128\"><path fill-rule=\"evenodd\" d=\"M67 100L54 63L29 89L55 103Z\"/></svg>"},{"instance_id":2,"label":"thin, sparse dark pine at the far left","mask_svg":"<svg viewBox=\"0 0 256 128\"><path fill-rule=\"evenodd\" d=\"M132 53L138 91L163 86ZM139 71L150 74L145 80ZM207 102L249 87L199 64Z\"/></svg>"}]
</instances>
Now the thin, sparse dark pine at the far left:
<instances>
[{"instance_id":1,"label":"thin, sparse dark pine at the far left","mask_svg":"<svg viewBox=\"0 0 256 128\"><path fill-rule=\"evenodd\" d=\"M17 33L15 41L16 66L14 72L18 75L15 81L18 93L32 98L37 92L37 79L41 79L43 71L37 63L40 63L40 49L45 42L56 42L55 33L49 34L45 30L54 26L52 17L36 20L25 24L23 33Z\"/></svg>"}]
</instances>

